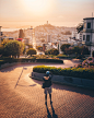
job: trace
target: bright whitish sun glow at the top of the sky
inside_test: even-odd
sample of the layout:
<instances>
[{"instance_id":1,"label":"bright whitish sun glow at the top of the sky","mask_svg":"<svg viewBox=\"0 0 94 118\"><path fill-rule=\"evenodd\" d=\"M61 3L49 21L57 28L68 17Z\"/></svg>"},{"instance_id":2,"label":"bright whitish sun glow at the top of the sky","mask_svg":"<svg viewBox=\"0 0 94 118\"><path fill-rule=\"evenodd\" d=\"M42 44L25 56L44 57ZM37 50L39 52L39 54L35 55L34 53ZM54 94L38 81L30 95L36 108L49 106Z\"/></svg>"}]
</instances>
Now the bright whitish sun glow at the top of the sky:
<instances>
[{"instance_id":1,"label":"bright whitish sun glow at the top of the sky","mask_svg":"<svg viewBox=\"0 0 94 118\"><path fill-rule=\"evenodd\" d=\"M36 14L44 14L48 7L49 0L23 0L25 10L28 12Z\"/></svg>"}]
</instances>

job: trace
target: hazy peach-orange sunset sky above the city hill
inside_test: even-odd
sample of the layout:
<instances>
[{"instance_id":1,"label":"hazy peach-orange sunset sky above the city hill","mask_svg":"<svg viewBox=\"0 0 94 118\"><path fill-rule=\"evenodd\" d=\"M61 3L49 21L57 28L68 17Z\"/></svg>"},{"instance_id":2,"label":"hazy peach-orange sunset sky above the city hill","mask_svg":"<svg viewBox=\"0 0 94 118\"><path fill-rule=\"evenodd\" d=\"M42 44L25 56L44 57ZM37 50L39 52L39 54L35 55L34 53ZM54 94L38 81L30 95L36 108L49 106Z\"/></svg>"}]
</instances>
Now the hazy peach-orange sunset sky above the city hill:
<instances>
[{"instance_id":1,"label":"hazy peach-orange sunset sky above the city hill","mask_svg":"<svg viewBox=\"0 0 94 118\"><path fill-rule=\"evenodd\" d=\"M75 26L94 16L94 0L0 0L0 25L20 27L42 25Z\"/></svg>"}]
</instances>

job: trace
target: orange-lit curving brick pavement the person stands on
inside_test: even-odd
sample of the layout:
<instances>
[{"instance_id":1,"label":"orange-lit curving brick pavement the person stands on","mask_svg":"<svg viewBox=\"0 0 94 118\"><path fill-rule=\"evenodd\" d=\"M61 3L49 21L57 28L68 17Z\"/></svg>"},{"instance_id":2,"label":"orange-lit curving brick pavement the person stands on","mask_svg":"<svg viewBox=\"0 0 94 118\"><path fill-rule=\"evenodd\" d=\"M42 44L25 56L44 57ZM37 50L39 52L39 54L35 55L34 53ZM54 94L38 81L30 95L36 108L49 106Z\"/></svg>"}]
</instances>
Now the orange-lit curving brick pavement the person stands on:
<instances>
[{"instance_id":1,"label":"orange-lit curving brick pavement the person stands on","mask_svg":"<svg viewBox=\"0 0 94 118\"><path fill-rule=\"evenodd\" d=\"M45 106L42 81L28 75L32 66L0 71L0 118L94 118L94 92L52 84L52 106Z\"/></svg>"}]
</instances>

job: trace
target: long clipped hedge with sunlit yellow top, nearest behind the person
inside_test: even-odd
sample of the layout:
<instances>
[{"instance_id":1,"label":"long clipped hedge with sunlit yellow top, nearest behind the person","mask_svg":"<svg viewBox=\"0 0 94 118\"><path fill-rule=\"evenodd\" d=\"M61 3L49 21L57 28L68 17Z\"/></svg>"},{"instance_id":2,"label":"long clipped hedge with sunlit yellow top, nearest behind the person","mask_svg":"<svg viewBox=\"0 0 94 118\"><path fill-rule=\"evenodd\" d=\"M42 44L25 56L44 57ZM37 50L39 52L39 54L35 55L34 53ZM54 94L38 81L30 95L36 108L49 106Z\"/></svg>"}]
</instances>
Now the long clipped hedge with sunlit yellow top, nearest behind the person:
<instances>
[{"instance_id":1,"label":"long clipped hedge with sunlit yellow top, nearest behind the person","mask_svg":"<svg viewBox=\"0 0 94 118\"><path fill-rule=\"evenodd\" d=\"M73 76L94 80L94 69L85 68L56 68L47 66L36 66L33 68L34 72L45 73L46 71L51 71L56 75Z\"/></svg>"}]
</instances>

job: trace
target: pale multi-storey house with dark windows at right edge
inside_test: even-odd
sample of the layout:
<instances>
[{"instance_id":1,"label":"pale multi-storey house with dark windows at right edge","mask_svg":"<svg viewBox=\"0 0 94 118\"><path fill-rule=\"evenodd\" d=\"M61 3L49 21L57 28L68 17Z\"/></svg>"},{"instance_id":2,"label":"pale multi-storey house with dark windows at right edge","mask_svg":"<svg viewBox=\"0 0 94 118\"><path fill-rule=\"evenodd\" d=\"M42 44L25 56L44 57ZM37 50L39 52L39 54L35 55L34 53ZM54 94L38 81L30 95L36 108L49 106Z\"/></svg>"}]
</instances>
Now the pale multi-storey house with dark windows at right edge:
<instances>
[{"instance_id":1,"label":"pale multi-storey house with dark windows at right edge","mask_svg":"<svg viewBox=\"0 0 94 118\"><path fill-rule=\"evenodd\" d=\"M82 44L89 46L89 49L94 50L94 17L85 17L83 19L83 39Z\"/></svg>"}]
</instances>

